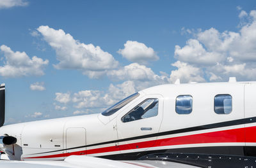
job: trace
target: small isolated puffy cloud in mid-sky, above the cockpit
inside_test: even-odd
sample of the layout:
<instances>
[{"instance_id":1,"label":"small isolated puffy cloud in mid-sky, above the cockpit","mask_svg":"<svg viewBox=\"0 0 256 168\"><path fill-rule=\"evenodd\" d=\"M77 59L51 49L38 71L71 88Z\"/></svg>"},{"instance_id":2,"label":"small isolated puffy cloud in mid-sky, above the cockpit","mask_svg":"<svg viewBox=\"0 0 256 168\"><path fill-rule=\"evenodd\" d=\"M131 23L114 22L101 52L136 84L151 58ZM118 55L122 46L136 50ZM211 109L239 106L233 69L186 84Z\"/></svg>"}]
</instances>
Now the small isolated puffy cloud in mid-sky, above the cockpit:
<instances>
[{"instance_id":1,"label":"small isolated puffy cloud in mid-sky, above the cockpit","mask_svg":"<svg viewBox=\"0 0 256 168\"><path fill-rule=\"evenodd\" d=\"M139 43L138 41L126 41L124 49L119 49L118 53L127 60L141 64L145 64L150 60L159 59L153 48L147 47L144 43Z\"/></svg>"}]
</instances>

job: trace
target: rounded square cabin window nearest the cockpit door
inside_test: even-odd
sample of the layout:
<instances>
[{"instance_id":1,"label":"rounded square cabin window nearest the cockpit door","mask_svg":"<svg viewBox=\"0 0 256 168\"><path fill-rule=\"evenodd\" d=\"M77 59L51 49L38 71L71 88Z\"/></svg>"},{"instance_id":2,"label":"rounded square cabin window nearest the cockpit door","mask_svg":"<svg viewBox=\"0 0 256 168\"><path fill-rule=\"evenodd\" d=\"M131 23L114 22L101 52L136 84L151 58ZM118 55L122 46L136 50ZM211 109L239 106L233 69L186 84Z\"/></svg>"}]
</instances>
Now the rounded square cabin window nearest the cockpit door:
<instances>
[{"instance_id":1,"label":"rounded square cabin window nearest the cockpit door","mask_svg":"<svg viewBox=\"0 0 256 168\"><path fill-rule=\"evenodd\" d=\"M191 95L179 95L176 97L176 113L188 115L192 111L193 97Z\"/></svg>"}]
</instances>

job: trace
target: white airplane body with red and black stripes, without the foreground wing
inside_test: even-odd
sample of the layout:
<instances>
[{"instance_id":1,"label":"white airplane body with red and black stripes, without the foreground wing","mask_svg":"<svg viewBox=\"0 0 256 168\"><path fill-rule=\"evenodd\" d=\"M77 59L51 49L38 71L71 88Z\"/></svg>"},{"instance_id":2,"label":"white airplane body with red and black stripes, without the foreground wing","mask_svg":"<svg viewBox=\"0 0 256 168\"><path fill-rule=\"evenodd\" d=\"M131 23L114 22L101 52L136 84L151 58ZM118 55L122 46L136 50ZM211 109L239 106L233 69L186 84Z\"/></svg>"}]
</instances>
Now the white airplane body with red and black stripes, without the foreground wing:
<instances>
[{"instance_id":1,"label":"white airplane body with red and black stripes, without the foreground wing","mask_svg":"<svg viewBox=\"0 0 256 168\"><path fill-rule=\"evenodd\" d=\"M136 92L99 114L12 125L3 125L4 92L2 84L0 159L83 155L77 157L256 166L256 81L177 80Z\"/></svg>"}]
</instances>

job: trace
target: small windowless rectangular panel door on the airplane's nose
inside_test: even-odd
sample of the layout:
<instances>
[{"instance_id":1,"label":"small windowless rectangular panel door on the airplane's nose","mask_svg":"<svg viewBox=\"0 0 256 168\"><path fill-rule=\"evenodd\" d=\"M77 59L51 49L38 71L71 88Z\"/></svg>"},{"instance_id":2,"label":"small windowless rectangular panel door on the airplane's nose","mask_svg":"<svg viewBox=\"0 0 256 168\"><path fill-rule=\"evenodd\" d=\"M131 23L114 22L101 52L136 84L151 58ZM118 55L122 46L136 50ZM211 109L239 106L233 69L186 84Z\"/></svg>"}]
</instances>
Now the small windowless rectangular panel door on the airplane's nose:
<instances>
[{"instance_id":1,"label":"small windowless rectangular panel door on the airplane's nose","mask_svg":"<svg viewBox=\"0 0 256 168\"><path fill-rule=\"evenodd\" d=\"M67 128L66 149L69 155L86 155L86 130L84 128ZM80 147L80 148L77 148Z\"/></svg>"}]
</instances>

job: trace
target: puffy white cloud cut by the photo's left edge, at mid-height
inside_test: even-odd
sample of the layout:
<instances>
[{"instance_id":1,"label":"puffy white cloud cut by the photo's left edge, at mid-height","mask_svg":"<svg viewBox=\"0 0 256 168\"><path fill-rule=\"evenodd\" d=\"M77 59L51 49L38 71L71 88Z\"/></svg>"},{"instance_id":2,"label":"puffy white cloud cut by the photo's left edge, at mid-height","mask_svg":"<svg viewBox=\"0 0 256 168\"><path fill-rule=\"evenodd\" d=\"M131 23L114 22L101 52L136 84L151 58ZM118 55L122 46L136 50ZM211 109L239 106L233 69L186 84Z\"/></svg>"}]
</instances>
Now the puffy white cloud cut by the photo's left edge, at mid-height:
<instances>
[{"instance_id":1,"label":"puffy white cloud cut by the photo's left edge, at mid-height","mask_svg":"<svg viewBox=\"0 0 256 168\"><path fill-rule=\"evenodd\" d=\"M4 77L42 76L44 67L49 60L36 56L30 59L25 52L13 52L10 47L2 45L0 50L4 53L4 66L0 66L0 75Z\"/></svg>"}]
</instances>

